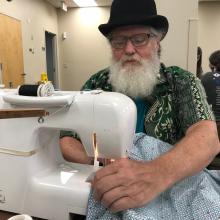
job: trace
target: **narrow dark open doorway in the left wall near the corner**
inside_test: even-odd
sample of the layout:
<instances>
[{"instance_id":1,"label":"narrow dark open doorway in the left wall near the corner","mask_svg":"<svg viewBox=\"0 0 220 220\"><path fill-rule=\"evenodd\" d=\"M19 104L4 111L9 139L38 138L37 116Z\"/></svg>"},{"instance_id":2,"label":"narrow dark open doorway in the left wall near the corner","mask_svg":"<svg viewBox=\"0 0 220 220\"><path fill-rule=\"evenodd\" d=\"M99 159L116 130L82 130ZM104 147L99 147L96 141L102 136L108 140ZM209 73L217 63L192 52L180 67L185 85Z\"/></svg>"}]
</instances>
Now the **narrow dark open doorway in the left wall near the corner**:
<instances>
[{"instance_id":1,"label":"narrow dark open doorway in the left wall near the corner","mask_svg":"<svg viewBox=\"0 0 220 220\"><path fill-rule=\"evenodd\" d=\"M47 77L58 89L56 34L45 31Z\"/></svg>"}]
</instances>

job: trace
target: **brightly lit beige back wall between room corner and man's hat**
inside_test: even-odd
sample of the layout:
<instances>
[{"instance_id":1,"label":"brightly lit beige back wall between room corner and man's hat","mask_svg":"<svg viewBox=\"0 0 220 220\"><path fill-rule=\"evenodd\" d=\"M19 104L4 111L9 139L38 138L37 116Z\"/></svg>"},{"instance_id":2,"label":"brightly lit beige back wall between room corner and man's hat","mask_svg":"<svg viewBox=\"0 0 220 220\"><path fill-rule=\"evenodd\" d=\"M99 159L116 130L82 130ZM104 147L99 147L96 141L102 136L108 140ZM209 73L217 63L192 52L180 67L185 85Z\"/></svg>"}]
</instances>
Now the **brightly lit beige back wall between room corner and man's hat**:
<instances>
[{"instance_id":1,"label":"brightly lit beige back wall between room corner and man's hat","mask_svg":"<svg viewBox=\"0 0 220 220\"><path fill-rule=\"evenodd\" d=\"M108 14L108 7L59 11L59 35L67 32L65 40L59 38L63 89L79 90L91 74L108 66L110 50L98 31Z\"/></svg>"}]
</instances>

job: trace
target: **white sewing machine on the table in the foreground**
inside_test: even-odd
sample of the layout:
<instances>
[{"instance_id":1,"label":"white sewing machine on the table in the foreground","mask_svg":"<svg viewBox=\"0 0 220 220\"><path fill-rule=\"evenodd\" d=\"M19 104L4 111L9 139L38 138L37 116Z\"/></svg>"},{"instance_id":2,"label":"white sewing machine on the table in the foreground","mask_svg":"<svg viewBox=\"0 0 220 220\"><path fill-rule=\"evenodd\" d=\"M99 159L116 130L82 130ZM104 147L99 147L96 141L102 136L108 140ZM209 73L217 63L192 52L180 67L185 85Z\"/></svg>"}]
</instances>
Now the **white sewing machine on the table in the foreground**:
<instances>
[{"instance_id":1,"label":"white sewing machine on the table in the foreground","mask_svg":"<svg viewBox=\"0 0 220 220\"><path fill-rule=\"evenodd\" d=\"M50 220L86 214L92 165L66 162L59 131L77 132L89 156L96 134L101 158L125 157L132 146L136 107L127 96L99 90L19 96L0 90L0 109L44 108L39 117L0 120L0 210Z\"/></svg>"}]
</instances>

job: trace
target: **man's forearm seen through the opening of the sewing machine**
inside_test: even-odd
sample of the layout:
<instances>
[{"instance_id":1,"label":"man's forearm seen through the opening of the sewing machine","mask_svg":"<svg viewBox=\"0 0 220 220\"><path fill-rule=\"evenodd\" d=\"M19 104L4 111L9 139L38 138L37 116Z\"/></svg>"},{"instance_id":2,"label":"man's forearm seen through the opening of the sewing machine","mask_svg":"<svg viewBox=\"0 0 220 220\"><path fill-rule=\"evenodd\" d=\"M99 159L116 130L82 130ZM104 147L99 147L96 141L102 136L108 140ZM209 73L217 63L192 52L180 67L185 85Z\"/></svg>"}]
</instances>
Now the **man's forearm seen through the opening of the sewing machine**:
<instances>
[{"instance_id":1,"label":"man's forearm seen through the opening of the sewing machine","mask_svg":"<svg viewBox=\"0 0 220 220\"><path fill-rule=\"evenodd\" d=\"M91 158L86 154L82 143L73 137L62 137L60 148L65 160L75 163L92 164Z\"/></svg>"}]
</instances>

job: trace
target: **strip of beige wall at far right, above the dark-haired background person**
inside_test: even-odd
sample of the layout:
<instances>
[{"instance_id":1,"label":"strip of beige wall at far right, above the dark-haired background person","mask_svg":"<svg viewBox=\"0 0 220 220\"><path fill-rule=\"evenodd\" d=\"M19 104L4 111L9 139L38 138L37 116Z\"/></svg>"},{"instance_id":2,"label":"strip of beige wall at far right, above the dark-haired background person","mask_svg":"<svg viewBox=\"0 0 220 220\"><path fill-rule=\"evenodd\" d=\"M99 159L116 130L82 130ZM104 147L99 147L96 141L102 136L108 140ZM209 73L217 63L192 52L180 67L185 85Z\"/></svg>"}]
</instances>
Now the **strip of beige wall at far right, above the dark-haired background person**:
<instances>
[{"instance_id":1,"label":"strip of beige wall at far right, above the dark-haired background person","mask_svg":"<svg viewBox=\"0 0 220 220\"><path fill-rule=\"evenodd\" d=\"M220 50L220 1L200 2L198 44L203 51L203 71L210 71L209 55Z\"/></svg>"}]
</instances>

